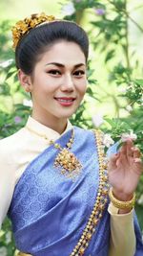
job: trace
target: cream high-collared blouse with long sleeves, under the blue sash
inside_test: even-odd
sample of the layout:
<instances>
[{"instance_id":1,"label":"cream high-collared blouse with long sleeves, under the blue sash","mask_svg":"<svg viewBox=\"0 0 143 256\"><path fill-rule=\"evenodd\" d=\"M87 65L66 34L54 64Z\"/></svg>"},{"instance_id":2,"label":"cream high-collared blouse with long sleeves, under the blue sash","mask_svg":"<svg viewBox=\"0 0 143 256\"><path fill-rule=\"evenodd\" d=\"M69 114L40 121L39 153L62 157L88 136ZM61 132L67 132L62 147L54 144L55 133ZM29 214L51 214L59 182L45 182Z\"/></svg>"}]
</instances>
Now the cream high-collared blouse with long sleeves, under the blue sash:
<instances>
[{"instance_id":1,"label":"cream high-collared blouse with long sleeves, under the blue sash","mask_svg":"<svg viewBox=\"0 0 143 256\"><path fill-rule=\"evenodd\" d=\"M45 134L53 141L72 128L68 122L67 128L60 135L51 128L38 123L29 117L27 126L40 134ZM10 207L14 187L26 170L31 160L48 147L48 141L27 128L7 138L0 140L0 227ZM110 203L111 214L111 246L110 256L133 256L135 250L135 235L133 228L133 211L129 214L118 215Z\"/></svg>"}]
</instances>

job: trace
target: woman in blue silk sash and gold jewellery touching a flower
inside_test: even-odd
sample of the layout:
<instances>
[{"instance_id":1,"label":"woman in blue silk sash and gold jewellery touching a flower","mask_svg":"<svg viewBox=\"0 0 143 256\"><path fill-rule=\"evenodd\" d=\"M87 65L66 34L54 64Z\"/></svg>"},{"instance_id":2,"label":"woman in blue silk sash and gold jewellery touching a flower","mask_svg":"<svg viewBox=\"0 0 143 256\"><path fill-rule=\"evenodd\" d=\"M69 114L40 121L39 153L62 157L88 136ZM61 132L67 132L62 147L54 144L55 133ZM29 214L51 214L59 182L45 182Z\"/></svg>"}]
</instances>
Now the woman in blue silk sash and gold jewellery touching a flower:
<instances>
[{"instance_id":1,"label":"woman in blue silk sash and gold jewellery touching a flower","mask_svg":"<svg viewBox=\"0 0 143 256\"><path fill-rule=\"evenodd\" d=\"M26 126L0 141L0 221L8 213L19 255L143 255L133 218L140 151L128 140L107 175L104 135L68 120L86 92L86 33L44 13L12 32L19 81L33 105Z\"/></svg>"}]
</instances>

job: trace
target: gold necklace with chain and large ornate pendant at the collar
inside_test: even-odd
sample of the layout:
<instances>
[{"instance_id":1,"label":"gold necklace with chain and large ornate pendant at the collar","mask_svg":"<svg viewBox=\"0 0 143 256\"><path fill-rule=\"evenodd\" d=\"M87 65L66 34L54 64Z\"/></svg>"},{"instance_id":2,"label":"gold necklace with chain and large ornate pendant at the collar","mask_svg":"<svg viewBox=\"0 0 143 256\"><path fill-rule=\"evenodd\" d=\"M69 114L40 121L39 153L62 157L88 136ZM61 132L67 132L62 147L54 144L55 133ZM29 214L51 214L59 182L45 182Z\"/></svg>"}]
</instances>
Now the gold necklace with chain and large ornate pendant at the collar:
<instances>
[{"instance_id":1,"label":"gold necklace with chain and large ornate pendant at the collar","mask_svg":"<svg viewBox=\"0 0 143 256\"><path fill-rule=\"evenodd\" d=\"M79 175L80 170L82 168L81 163L77 159L77 157L70 151L72 149L72 144L74 141L74 129L72 128L72 136L69 142L66 144L66 148L62 148L60 144L55 143L53 140L50 140L45 134L40 134L37 131L26 126L28 130L30 130L35 135L44 138L48 141L50 145L53 145L55 149L59 150L58 154L55 157L53 166L56 168L60 168L61 174L67 177L74 179L76 175Z\"/></svg>"}]
</instances>

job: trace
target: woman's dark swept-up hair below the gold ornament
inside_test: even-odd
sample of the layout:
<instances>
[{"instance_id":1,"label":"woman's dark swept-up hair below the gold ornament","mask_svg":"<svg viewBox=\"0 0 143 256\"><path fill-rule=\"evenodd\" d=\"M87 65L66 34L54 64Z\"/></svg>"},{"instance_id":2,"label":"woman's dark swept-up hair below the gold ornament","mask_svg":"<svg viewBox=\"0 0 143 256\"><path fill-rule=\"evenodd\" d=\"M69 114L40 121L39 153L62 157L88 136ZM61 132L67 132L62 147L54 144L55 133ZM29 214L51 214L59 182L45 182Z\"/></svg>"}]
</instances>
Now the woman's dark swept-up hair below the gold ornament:
<instances>
[{"instance_id":1,"label":"woman's dark swept-up hair below the gold ornament","mask_svg":"<svg viewBox=\"0 0 143 256\"><path fill-rule=\"evenodd\" d=\"M88 35L76 23L62 20L37 26L20 39L15 50L17 68L22 69L27 75L31 75L41 54L61 40L77 43L87 61L89 55Z\"/></svg>"}]
</instances>

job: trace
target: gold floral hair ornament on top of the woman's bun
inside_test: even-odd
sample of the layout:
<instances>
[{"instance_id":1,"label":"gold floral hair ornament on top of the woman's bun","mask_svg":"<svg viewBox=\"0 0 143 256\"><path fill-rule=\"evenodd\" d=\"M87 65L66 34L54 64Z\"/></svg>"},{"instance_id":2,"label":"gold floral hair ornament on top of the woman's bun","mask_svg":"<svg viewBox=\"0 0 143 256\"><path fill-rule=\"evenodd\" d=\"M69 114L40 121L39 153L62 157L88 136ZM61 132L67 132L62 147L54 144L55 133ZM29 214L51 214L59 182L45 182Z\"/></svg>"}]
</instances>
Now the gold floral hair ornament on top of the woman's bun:
<instances>
[{"instance_id":1,"label":"gold floral hair ornament on top of the woman's bun","mask_svg":"<svg viewBox=\"0 0 143 256\"><path fill-rule=\"evenodd\" d=\"M40 14L31 14L31 17L27 17L24 20L19 20L18 22L16 22L15 26L11 30L13 48L16 48L22 36L28 34L31 29L35 28L37 25L43 22L51 22L53 20L55 20L54 16L46 15L44 12L42 12Z\"/></svg>"}]
</instances>

